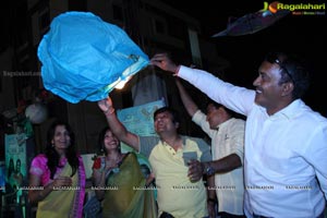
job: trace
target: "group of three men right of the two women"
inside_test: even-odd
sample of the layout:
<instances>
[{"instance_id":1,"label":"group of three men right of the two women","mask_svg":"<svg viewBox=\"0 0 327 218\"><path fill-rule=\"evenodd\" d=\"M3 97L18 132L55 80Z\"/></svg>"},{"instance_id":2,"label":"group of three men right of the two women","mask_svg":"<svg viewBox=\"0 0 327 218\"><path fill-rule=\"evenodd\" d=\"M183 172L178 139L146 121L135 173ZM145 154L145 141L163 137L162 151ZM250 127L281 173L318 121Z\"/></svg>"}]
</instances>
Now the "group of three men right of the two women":
<instances>
[{"instance_id":1,"label":"group of three men right of the two women","mask_svg":"<svg viewBox=\"0 0 327 218\"><path fill-rule=\"evenodd\" d=\"M158 136L146 137L121 124L110 97L98 101L118 138L148 157L160 217L216 217L216 199L222 218L325 217L327 119L301 99L308 73L296 59L268 53L255 89L178 65L167 53L155 55L150 63L214 100L204 114L177 80L187 113L211 138L211 150L201 138L180 135L179 118L168 107L154 114ZM245 116L246 124L231 110Z\"/></svg>"}]
</instances>

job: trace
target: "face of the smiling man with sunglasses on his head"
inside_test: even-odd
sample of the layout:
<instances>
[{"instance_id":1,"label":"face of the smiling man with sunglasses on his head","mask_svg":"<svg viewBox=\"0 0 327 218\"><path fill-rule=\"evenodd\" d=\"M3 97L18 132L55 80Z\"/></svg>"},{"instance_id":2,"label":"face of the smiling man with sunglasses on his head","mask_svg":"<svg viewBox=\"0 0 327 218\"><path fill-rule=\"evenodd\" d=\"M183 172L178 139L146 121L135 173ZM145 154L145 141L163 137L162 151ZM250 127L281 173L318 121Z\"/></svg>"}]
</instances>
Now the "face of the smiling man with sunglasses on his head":
<instances>
[{"instance_id":1,"label":"face of the smiling man with sunglasses on his head","mask_svg":"<svg viewBox=\"0 0 327 218\"><path fill-rule=\"evenodd\" d=\"M281 78L280 66L276 63L264 61L259 69L259 75L253 82L256 87L255 102L267 109L269 114L280 109L284 84L279 84Z\"/></svg>"}]
</instances>

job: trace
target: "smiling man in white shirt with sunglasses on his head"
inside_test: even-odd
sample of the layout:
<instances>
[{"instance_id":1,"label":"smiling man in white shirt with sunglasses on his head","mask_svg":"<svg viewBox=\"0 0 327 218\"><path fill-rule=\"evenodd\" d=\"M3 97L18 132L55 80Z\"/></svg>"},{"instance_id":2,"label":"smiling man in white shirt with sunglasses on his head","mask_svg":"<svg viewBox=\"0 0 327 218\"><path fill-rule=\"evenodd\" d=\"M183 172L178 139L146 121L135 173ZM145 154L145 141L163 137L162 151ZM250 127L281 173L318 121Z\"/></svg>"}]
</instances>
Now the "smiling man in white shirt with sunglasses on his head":
<instances>
[{"instance_id":1,"label":"smiling man in white shirt with sunglasses on his head","mask_svg":"<svg viewBox=\"0 0 327 218\"><path fill-rule=\"evenodd\" d=\"M327 119L301 100L307 71L282 52L268 53L253 82L238 87L158 53L152 64L189 81L246 116L244 210L247 217L323 218L327 198Z\"/></svg>"}]
</instances>

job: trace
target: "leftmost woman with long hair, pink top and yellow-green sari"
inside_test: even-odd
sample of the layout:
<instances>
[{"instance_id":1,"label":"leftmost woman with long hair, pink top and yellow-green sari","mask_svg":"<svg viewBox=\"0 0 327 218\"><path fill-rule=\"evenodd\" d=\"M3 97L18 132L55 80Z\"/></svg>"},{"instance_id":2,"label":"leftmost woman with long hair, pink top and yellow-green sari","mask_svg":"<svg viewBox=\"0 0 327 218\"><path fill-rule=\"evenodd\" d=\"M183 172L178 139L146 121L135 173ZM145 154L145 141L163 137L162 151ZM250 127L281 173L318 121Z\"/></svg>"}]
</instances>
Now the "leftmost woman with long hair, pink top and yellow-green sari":
<instances>
[{"instance_id":1,"label":"leftmost woman with long hair, pink top and yellow-green sari","mask_svg":"<svg viewBox=\"0 0 327 218\"><path fill-rule=\"evenodd\" d=\"M68 123L56 121L48 130L46 153L29 169L28 198L38 203L36 217L82 218L85 170Z\"/></svg>"}]
</instances>

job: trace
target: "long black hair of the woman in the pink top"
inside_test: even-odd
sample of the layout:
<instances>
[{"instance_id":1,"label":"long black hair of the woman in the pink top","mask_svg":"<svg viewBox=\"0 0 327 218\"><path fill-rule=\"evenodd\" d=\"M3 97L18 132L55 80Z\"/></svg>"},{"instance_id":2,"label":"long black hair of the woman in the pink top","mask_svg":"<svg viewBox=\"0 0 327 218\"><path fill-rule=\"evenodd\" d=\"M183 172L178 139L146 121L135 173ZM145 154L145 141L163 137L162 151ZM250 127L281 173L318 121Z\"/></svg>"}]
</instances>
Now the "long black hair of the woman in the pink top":
<instances>
[{"instance_id":1,"label":"long black hair of the woman in the pink top","mask_svg":"<svg viewBox=\"0 0 327 218\"><path fill-rule=\"evenodd\" d=\"M48 129L48 133L47 133L47 147L46 147L46 157L48 159L48 168L50 170L50 178L53 179L55 177L55 173L56 173L56 168L57 167L60 167L62 168L63 166L59 166L59 154L57 153L57 150L55 149L53 145L52 145L52 140L55 137L55 132L56 132L56 128L58 125L63 125L69 135L70 135L70 138L71 138L71 144L70 146L66 148L66 159L68 159L68 162L70 164L70 166L72 167L72 174L71 175L74 175L78 166L80 166L80 162L78 162L78 158L77 158L77 155L76 155L76 152L75 152L75 135L71 129L71 126L63 122L63 121L55 121L50 128Z\"/></svg>"}]
</instances>

